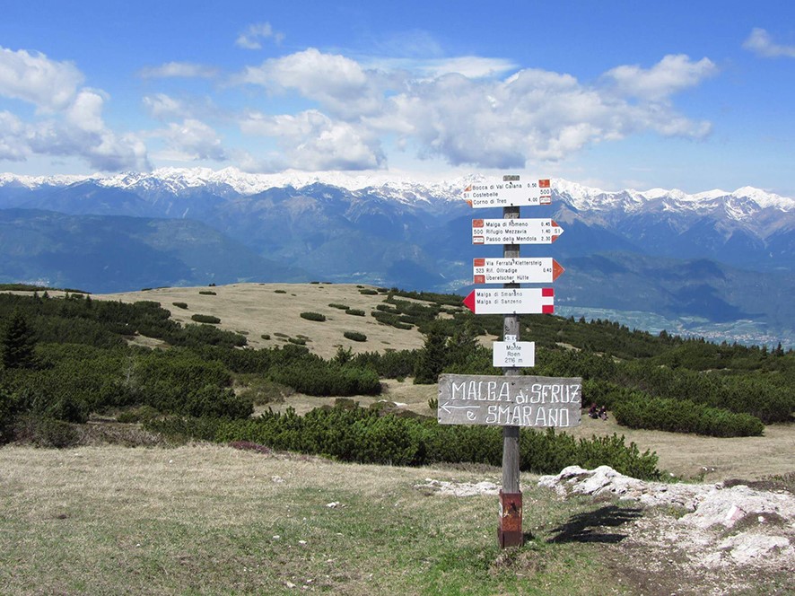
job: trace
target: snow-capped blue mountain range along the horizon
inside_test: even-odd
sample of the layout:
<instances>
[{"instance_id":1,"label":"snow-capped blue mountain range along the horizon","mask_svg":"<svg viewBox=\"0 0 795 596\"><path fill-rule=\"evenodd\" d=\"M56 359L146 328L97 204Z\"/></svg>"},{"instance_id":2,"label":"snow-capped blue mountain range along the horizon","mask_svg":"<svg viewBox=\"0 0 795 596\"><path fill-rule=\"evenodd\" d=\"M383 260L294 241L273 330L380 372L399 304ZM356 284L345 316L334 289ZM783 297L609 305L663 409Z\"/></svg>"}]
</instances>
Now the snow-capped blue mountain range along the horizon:
<instances>
[{"instance_id":1,"label":"snow-capped blue mountain range along the horizon","mask_svg":"<svg viewBox=\"0 0 795 596\"><path fill-rule=\"evenodd\" d=\"M31 210L78 218L72 221L73 229L79 228L86 241L92 225L90 220L77 223L79 218L145 218L162 231L171 230L160 233L159 243L148 247L167 255L180 253L184 259L191 250L205 255L207 267L197 280L223 276L222 283L277 281L257 277L281 272L291 281L310 278L466 292L472 285L472 259L502 254L501 247L471 244L474 217L502 215L497 209L472 209L461 200L463 188L475 180L481 178L264 175L232 168L105 177L0 174L0 210L13 209L18 220L23 211ZM550 206L524 207L522 216L554 218L564 233L551 247L523 247L522 255L554 256L567 269L555 283L559 304L647 309L715 321L753 319L771 329L792 327L795 306L791 294L785 294L795 291L792 198L750 187L694 195L660 188L607 192L553 179L552 188ZM103 225L111 225L111 219ZM224 249L221 260L208 259L200 249L202 233L186 243L173 227L180 221L201 223L208 242L219 234L230 241L227 247L239 249ZM41 220L31 216L30 222L30 237L53 246L67 229L44 226L34 232ZM127 230L121 221L118 225ZM94 240L94 245L112 243L113 234ZM33 278L24 276L20 266L25 249L17 245L12 254L7 245L0 237L0 257L6 263L0 265L0 281ZM139 244L133 242L126 250L138 250L135 247ZM112 247L104 253L118 256ZM70 254L79 261L79 251ZM156 275L162 283L157 285L188 283L169 259L159 260L146 250L140 258L162 263ZM58 262L55 256L50 259L53 267ZM37 271L45 265L39 262ZM194 260L191 267L197 270L200 265ZM100 263L86 260L85 267L90 266ZM170 273L168 267L176 269ZM124 276L126 267L114 270ZM61 274L54 271L52 276L65 275ZM111 291L103 276L83 278L96 280L86 289ZM121 288L125 283L129 285ZM113 281L119 289L137 289L136 284L133 279ZM760 293L764 294L756 298Z\"/></svg>"}]
</instances>

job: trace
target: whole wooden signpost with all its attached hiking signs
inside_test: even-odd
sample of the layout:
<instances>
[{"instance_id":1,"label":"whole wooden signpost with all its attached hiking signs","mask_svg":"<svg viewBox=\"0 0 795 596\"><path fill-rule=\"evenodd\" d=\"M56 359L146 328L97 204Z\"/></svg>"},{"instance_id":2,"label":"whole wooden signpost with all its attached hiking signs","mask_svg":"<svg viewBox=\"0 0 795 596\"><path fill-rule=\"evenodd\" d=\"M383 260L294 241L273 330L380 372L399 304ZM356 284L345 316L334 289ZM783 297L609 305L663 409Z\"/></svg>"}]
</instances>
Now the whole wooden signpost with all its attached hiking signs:
<instances>
[{"instance_id":1,"label":"whole wooden signpost with all its attached hiking signs","mask_svg":"<svg viewBox=\"0 0 795 596\"><path fill-rule=\"evenodd\" d=\"M519 482L519 431L525 427L570 427L580 424L582 380L523 376L535 365L535 344L519 341L519 315L555 312L549 284L563 273L555 259L521 259L520 244L551 244L563 233L552 219L520 219L521 206L549 205L549 180L517 175L470 184L462 197L475 208L502 207L502 219L472 222L474 244L502 244L502 259L475 259L476 284L502 284L500 289L473 290L464 304L475 314L502 314L502 342L494 343L494 366L502 376L442 374L438 420L442 425L502 426L502 490L497 539L502 548L520 546L522 498Z\"/></svg>"}]
</instances>

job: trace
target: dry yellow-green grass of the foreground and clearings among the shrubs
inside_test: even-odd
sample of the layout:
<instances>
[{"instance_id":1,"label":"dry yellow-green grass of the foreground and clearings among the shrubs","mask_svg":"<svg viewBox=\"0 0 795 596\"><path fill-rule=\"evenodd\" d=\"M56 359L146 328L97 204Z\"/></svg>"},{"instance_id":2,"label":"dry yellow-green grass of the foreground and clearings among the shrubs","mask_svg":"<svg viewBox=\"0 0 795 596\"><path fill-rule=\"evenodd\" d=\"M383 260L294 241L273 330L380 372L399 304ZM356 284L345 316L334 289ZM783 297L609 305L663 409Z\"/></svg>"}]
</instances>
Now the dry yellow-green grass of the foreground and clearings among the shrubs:
<instances>
[{"instance_id":1,"label":"dry yellow-green grass of the foreground and clearings among the shrubs","mask_svg":"<svg viewBox=\"0 0 795 596\"><path fill-rule=\"evenodd\" d=\"M255 348L300 343L328 359L339 347L354 354L423 347L416 328L397 329L371 316L385 299L372 288L329 284L92 296L160 302L181 323L197 320L195 315L214 317L220 320L214 327L245 336ZM322 317L301 316L307 312ZM345 332L367 339L355 341ZM130 341L165 346L142 335ZM432 415L435 385L415 385L410 378L381 382L380 395L353 399L363 406L387 400ZM294 390L283 397L257 410L293 408L302 415L335 401ZM750 584L727 569L704 576L633 540L636 522L673 523L681 512L644 513L637 504L611 498L563 500L538 488L538 477L529 473L521 475L526 544L501 550L496 495L456 497L428 486L429 479L499 485L499 468L401 468L223 444L175 445L113 416L93 416L83 428L86 440L70 449L0 447L0 595L668 596L795 589L783 571L755 575ZM624 435L626 443L655 451L667 478L791 478L795 471L792 424L767 425L763 436L716 438L583 416L581 426L568 432L578 438ZM122 446L127 443L139 446ZM655 565L647 565L652 560Z\"/></svg>"}]
</instances>

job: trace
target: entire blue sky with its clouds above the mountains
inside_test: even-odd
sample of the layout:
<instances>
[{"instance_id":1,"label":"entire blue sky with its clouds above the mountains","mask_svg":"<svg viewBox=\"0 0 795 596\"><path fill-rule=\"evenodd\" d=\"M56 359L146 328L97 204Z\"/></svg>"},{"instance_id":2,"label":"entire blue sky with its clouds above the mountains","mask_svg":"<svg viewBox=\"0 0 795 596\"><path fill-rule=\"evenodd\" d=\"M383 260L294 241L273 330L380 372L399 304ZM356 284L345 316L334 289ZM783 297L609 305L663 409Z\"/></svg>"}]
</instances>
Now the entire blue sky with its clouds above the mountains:
<instances>
[{"instance_id":1,"label":"entire blue sky with its clouds above the mountains","mask_svg":"<svg viewBox=\"0 0 795 596\"><path fill-rule=\"evenodd\" d=\"M36 2L0 171L529 171L795 197L795 3Z\"/></svg>"}]
</instances>

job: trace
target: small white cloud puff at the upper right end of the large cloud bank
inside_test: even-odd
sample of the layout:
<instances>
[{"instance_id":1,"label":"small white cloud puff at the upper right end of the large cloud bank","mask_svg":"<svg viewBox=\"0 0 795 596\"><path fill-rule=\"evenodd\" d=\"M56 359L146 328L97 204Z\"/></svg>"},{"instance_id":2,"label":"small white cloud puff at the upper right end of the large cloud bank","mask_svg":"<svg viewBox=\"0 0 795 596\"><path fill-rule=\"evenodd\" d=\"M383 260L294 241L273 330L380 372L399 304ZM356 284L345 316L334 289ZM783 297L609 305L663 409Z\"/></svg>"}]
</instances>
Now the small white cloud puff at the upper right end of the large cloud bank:
<instances>
[{"instance_id":1,"label":"small white cloud puff at the upper right end of the large cloud bank","mask_svg":"<svg viewBox=\"0 0 795 596\"><path fill-rule=\"evenodd\" d=\"M660 101L694 87L717 71L718 67L709 58L693 62L689 57L678 54L663 57L648 69L637 65L616 66L604 74L604 79L612 82L622 95Z\"/></svg>"}]
</instances>

